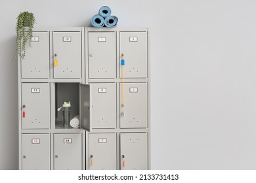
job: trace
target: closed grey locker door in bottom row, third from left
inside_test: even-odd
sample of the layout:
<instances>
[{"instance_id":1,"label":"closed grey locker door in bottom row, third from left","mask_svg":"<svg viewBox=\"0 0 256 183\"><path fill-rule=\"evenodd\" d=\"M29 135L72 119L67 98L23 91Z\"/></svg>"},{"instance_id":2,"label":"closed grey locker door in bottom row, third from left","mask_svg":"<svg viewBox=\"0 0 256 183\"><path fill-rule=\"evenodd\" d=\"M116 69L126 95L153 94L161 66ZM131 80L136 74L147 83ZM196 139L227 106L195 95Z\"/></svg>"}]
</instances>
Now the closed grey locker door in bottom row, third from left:
<instances>
[{"instance_id":1,"label":"closed grey locker door in bottom row, third from left","mask_svg":"<svg viewBox=\"0 0 256 183\"><path fill-rule=\"evenodd\" d=\"M116 134L90 133L89 134L89 169L115 170L116 169Z\"/></svg>"}]
</instances>

